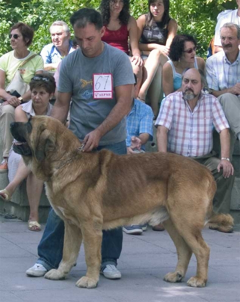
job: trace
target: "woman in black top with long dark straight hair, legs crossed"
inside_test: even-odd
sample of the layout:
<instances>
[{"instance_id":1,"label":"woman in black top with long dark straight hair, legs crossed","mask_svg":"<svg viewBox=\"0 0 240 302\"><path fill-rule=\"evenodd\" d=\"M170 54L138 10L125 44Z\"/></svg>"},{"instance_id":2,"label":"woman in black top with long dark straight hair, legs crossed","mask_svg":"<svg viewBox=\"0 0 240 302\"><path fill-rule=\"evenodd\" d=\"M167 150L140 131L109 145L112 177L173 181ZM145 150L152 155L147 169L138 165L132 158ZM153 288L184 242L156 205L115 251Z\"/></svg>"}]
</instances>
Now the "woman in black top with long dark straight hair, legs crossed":
<instances>
[{"instance_id":1,"label":"woman in black top with long dark straight hair, legs crossed","mask_svg":"<svg viewBox=\"0 0 240 302\"><path fill-rule=\"evenodd\" d=\"M148 99L154 115L158 114L162 66L168 60L169 46L176 35L177 23L169 16L169 0L149 0L148 13L137 20L139 49L144 60L143 84L139 99Z\"/></svg>"}]
</instances>

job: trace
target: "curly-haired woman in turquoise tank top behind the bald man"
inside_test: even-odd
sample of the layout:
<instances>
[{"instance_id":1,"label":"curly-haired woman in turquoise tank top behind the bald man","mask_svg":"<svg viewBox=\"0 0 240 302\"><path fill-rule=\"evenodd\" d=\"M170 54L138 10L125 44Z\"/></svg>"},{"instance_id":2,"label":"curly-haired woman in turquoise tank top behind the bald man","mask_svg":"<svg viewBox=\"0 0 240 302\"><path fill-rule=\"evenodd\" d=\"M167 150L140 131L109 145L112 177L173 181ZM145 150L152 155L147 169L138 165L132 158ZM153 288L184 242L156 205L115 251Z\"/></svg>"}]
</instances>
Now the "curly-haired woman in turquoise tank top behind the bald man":
<instances>
[{"instance_id":1,"label":"curly-haired woman in turquoise tank top behind the bald man","mask_svg":"<svg viewBox=\"0 0 240 302\"><path fill-rule=\"evenodd\" d=\"M186 68L201 69L205 73L205 61L196 57L197 42L193 36L177 35L173 38L169 58L162 69L162 88L167 96L182 90L182 73Z\"/></svg>"}]
</instances>

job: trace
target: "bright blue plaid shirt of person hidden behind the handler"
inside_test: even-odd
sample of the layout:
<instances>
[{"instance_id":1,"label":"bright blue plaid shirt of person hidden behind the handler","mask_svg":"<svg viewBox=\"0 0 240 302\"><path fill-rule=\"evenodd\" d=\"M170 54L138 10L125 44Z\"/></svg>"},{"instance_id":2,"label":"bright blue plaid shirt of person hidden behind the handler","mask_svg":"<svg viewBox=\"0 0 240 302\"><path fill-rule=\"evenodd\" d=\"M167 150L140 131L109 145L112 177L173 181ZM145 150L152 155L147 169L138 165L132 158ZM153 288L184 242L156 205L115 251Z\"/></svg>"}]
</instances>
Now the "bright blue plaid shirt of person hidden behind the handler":
<instances>
[{"instance_id":1,"label":"bright blue plaid shirt of person hidden behind the handler","mask_svg":"<svg viewBox=\"0 0 240 302\"><path fill-rule=\"evenodd\" d=\"M149 140L153 139L152 121L151 107L135 99L132 110L127 116L127 147L131 146L131 137L139 136L141 133L148 133ZM145 150L145 146L142 145L141 149Z\"/></svg>"}]
</instances>

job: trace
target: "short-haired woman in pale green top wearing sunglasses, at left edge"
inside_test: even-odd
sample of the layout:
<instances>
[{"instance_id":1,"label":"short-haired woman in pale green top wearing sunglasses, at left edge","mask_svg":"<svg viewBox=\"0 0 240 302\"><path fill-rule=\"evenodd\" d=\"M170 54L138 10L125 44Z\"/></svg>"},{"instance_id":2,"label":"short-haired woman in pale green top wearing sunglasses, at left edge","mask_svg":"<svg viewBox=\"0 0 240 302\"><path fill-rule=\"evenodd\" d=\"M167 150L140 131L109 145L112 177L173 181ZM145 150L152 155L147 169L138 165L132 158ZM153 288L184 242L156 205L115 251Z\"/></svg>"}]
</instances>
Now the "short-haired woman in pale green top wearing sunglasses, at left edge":
<instances>
[{"instance_id":1,"label":"short-haired woman in pale green top wearing sunglasses, at left edge","mask_svg":"<svg viewBox=\"0 0 240 302\"><path fill-rule=\"evenodd\" d=\"M22 22L16 23L10 30L10 43L13 50L0 58L0 99L4 100L4 103L0 106L4 157L0 165L0 173L8 172L9 150L13 141L10 133L10 124L14 121L15 108L21 103L28 102L31 98L30 91L24 95L20 95L15 91L11 95L6 91L6 87L14 79L18 69L22 80L27 84L29 84L34 74L43 72L42 57L36 54L33 57L34 53L28 50L33 40L33 34L34 31L29 25Z\"/></svg>"}]
</instances>

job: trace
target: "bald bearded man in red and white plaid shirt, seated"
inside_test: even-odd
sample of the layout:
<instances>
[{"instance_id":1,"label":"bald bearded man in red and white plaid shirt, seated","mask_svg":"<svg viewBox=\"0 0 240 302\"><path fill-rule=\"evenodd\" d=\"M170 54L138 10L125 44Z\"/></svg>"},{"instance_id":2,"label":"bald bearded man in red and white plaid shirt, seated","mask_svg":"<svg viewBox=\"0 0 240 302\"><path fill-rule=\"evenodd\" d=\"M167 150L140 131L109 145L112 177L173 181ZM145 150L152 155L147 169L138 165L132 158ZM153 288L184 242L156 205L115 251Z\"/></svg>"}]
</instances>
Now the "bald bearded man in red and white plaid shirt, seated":
<instances>
[{"instance_id":1,"label":"bald bearded man in red and white plaid shirt, seated","mask_svg":"<svg viewBox=\"0 0 240 302\"><path fill-rule=\"evenodd\" d=\"M182 92L168 95L161 104L155 123L158 150L193 158L208 167L217 183L213 209L228 213L234 181L229 160L228 122L217 98L201 93L205 83L202 73L190 68L183 73L182 79ZM212 152L212 125L220 135L221 160ZM232 227L214 230L230 233Z\"/></svg>"}]
</instances>

